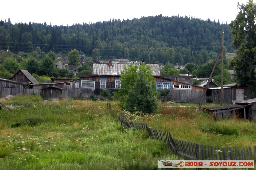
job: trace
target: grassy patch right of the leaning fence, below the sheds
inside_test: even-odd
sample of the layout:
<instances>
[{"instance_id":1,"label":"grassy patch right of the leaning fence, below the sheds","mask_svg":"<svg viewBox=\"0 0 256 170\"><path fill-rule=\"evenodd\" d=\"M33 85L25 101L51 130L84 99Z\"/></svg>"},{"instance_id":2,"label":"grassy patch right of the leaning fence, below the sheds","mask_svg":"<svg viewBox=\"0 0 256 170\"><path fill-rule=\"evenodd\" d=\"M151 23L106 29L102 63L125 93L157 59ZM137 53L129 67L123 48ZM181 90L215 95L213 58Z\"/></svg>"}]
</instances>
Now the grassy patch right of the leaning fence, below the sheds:
<instances>
[{"instance_id":1,"label":"grassy patch right of the leaning fence, below the sheds","mask_svg":"<svg viewBox=\"0 0 256 170\"><path fill-rule=\"evenodd\" d=\"M129 119L147 123L154 129L170 130L174 138L188 142L238 148L249 146L253 148L256 145L255 122L244 122L233 118L215 121L213 115L207 112L196 112L197 106L197 104L188 104L188 107L179 107L174 104L172 107L165 104L162 105L161 114L157 118L131 115ZM204 104L202 108L205 106Z\"/></svg>"}]
</instances>

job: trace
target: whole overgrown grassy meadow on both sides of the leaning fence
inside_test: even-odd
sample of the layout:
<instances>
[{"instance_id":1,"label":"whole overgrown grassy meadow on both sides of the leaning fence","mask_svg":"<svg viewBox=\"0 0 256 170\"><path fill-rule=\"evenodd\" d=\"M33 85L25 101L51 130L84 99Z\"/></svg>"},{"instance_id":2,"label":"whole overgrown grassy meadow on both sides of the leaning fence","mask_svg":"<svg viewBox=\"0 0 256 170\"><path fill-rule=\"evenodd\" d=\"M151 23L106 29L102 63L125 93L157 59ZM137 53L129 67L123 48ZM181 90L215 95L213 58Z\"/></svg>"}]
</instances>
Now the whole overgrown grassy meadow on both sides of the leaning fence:
<instances>
[{"instance_id":1,"label":"whole overgrown grassy meadow on both sides of the leaning fence","mask_svg":"<svg viewBox=\"0 0 256 170\"><path fill-rule=\"evenodd\" d=\"M18 96L0 102L13 110L0 111L0 169L157 169L158 159L180 159L161 141L149 139L147 131L121 126L115 101L111 110L109 101ZM126 119L170 130L174 138L189 142L256 145L256 123L214 121L212 115L196 112L197 106L161 104L155 115L127 114Z\"/></svg>"}]
</instances>

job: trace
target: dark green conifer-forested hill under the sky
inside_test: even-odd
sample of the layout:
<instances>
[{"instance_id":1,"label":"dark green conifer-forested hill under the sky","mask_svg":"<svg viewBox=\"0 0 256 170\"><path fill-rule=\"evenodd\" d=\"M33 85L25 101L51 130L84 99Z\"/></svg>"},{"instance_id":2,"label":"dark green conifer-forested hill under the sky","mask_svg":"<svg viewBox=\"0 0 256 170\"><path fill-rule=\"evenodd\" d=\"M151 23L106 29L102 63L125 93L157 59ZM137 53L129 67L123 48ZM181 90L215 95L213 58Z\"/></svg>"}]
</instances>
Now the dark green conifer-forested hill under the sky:
<instances>
[{"instance_id":1,"label":"dark green conifer-forested hill under the sky","mask_svg":"<svg viewBox=\"0 0 256 170\"><path fill-rule=\"evenodd\" d=\"M222 29L224 46L232 52L230 27L210 19L158 15L72 26L1 20L0 50L6 51L9 45L12 53L31 52L40 46L44 52L52 50L66 55L71 49L78 49L81 54L94 56L92 51L97 48L100 59L147 61L150 56L151 62L163 64L202 64L219 52Z\"/></svg>"}]
</instances>

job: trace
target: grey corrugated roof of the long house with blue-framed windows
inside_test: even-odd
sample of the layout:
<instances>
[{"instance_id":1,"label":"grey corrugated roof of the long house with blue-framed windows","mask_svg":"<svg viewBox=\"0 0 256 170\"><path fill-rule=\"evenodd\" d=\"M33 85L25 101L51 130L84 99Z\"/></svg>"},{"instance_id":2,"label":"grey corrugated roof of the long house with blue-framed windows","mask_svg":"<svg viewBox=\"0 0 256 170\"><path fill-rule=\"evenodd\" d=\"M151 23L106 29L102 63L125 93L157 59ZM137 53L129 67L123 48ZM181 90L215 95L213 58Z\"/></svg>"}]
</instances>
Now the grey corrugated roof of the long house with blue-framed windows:
<instances>
[{"instance_id":1,"label":"grey corrugated roof of the long house with blue-framed windows","mask_svg":"<svg viewBox=\"0 0 256 170\"><path fill-rule=\"evenodd\" d=\"M121 71L124 70L124 67L129 67L130 64L101 64L94 63L92 69L92 75L120 75ZM134 64L136 65L136 64ZM160 76L160 70L158 64L146 64L151 65L152 76Z\"/></svg>"}]
</instances>

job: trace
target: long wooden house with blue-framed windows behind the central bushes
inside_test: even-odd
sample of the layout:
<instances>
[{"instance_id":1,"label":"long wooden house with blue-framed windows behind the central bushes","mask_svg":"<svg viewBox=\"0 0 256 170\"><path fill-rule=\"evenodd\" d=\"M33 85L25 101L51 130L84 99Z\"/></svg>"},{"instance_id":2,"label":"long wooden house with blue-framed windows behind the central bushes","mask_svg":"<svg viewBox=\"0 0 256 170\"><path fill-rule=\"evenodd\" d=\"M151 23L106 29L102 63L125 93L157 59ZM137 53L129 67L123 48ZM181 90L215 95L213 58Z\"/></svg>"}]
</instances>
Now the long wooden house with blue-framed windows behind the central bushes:
<instances>
[{"instance_id":1,"label":"long wooden house with blue-framed windows behind the central bushes","mask_svg":"<svg viewBox=\"0 0 256 170\"><path fill-rule=\"evenodd\" d=\"M177 102L200 102L204 87L161 77L159 65L150 65L157 91L170 90L168 98ZM110 92L122 88L120 73L125 66L129 67L129 64L112 64L111 61L108 64L94 63L92 75L81 76L81 96L99 95L103 88L109 89ZM206 101L206 98L204 101Z\"/></svg>"}]
</instances>

